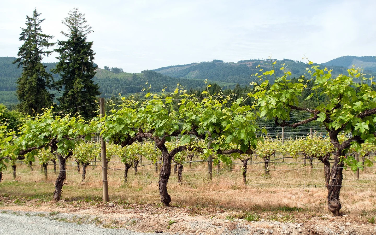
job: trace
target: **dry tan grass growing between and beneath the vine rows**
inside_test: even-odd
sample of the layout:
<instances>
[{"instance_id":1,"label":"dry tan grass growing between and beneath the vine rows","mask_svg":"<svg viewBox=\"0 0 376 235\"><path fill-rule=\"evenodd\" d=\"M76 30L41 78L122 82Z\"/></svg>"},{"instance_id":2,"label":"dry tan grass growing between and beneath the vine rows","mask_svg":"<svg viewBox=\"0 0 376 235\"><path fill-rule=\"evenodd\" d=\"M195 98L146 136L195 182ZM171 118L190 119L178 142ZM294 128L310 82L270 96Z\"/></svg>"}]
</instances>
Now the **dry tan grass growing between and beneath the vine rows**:
<instances>
[{"instance_id":1,"label":"dry tan grass growing between and beneath the vine rows","mask_svg":"<svg viewBox=\"0 0 376 235\"><path fill-rule=\"evenodd\" d=\"M256 161L259 159L256 159ZM113 159L113 161L117 161ZM289 160L296 161L296 160ZM87 168L86 182L82 182L76 167L68 163L67 184L62 198L74 200L102 199L102 170ZM121 163L111 162L109 168L123 168ZM323 165L314 164L314 169L303 164L271 164L271 175L263 176L262 164L249 165L247 185L243 184L241 165L234 165L232 171L222 168L220 174L213 169L213 179L207 179L206 164L194 163L192 168L184 165L183 183L177 183L177 176L170 177L168 190L174 206L213 207L217 209L287 211L323 215L328 214L326 188L323 181ZM11 168L3 174L0 192L9 197L52 200L56 174L49 165L49 177L44 176L38 166L30 172L26 165L18 164L17 182L13 181ZM155 203L159 201L158 175L154 165L138 168L135 176L131 169L128 183L123 182L123 170L108 170L109 195L111 200L123 203ZM355 179L352 171L344 171L344 187L341 190L342 211L366 218L376 214L376 168L365 168L361 180Z\"/></svg>"}]
</instances>

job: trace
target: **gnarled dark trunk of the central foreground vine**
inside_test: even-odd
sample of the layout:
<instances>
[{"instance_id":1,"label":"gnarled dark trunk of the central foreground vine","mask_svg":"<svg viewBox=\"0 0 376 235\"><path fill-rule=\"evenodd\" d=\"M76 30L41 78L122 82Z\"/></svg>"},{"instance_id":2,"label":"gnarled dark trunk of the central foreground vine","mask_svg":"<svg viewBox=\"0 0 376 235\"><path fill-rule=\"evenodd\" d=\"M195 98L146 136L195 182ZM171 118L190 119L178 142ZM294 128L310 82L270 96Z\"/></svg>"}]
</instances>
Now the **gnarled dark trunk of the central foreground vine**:
<instances>
[{"instance_id":1,"label":"gnarled dark trunk of the central foreground vine","mask_svg":"<svg viewBox=\"0 0 376 235\"><path fill-rule=\"evenodd\" d=\"M161 173L159 174L159 195L161 196L161 201L165 206L168 206L171 202L171 196L167 193L167 182L170 179L171 174L171 158L168 155L167 148L165 146L161 147L163 164L161 167Z\"/></svg>"}]
</instances>

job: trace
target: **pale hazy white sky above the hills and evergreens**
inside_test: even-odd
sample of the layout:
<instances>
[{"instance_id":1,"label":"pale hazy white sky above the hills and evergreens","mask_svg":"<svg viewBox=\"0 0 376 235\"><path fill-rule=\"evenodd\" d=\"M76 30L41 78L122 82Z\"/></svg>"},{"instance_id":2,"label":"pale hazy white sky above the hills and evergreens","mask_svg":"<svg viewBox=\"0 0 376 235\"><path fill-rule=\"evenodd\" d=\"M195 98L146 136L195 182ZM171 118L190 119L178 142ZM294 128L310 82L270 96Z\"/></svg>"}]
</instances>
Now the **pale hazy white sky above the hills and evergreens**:
<instances>
[{"instance_id":1,"label":"pale hazy white sky above the hills and evergreens","mask_svg":"<svg viewBox=\"0 0 376 235\"><path fill-rule=\"evenodd\" d=\"M16 56L34 8L44 33L64 40L70 9L86 14L100 68L138 73L222 59L288 58L321 63L376 55L376 1L18 0L0 8L0 56ZM56 56L56 55L55 55ZM56 61L54 56L45 62Z\"/></svg>"}]
</instances>

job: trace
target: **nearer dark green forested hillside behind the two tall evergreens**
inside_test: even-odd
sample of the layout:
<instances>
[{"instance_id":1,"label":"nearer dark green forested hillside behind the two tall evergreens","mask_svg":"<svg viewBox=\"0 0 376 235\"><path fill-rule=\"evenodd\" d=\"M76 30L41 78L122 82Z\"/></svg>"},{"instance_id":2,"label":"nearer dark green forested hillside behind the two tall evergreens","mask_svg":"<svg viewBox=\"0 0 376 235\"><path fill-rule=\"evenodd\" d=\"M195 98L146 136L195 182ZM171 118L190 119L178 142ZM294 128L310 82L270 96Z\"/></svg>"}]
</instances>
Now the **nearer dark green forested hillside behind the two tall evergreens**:
<instances>
[{"instance_id":1,"label":"nearer dark green forested hillside behind the two tall evergreens","mask_svg":"<svg viewBox=\"0 0 376 235\"><path fill-rule=\"evenodd\" d=\"M15 96L16 82L17 78L21 76L22 68L17 68L16 64L12 64L15 59L14 57L0 57L0 103L4 103L7 106L17 103L17 97ZM56 63L43 64L47 66L47 71L56 66ZM55 80L59 79L56 74L53 77ZM141 92L143 87L149 88L150 86L150 91L152 92L159 92L163 88L166 91L172 91L176 88L177 83L185 86L186 89L200 89L205 86L202 79L175 79L151 70L142 71L141 73L113 73L98 68L93 80L94 83L98 83L102 96L107 98L118 93ZM236 85L236 83L227 82L217 82L217 84L224 86L224 88L233 88ZM57 91L54 91L54 93L56 98L61 96Z\"/></svg>"}]
</instances>

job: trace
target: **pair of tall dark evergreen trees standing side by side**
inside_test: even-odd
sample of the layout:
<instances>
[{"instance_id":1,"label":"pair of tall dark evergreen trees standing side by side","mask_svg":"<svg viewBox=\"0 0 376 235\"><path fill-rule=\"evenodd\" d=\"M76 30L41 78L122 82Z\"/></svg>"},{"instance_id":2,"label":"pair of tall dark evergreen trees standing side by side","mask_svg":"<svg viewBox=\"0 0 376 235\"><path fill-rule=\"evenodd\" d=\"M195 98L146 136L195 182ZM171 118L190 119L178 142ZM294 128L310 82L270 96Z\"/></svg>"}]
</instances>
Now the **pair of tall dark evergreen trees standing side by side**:
<instances>
[{"instance_id":1,"label":"pair of tall dark evergreen trees standing side by side","mask_svg":"<svg viewBox=\"0 0 376 235\"><path fill-rule=\"evenodd\" d=\"M53 36L42 32L41 23L45 19L40 19L40 15L35 9L31 17L26 16L26 27L21 28L20 34L20 41L24 43L13 62L18 68L22 67L16 89L20 101L18 110L30 115L44 112L45 108L54 105L55 94L49 90L56 89L63 91L58 98L61 111L92 117L96 106L86 104L94 103L101 93L92 80L97 66L94 64L92 42L87 40L92 30L85 14L73 8L62 20L67 31L61 33L66 40L58 39L56 43L50 42ZM57 47L51 50L55 45ZM46 70L47 66L42 64L42 57L51 55L53 51L59 53L56 57L59 62L51 69L59 76L56 81Z\"/></svg>"}]
</instances>

